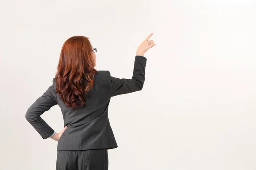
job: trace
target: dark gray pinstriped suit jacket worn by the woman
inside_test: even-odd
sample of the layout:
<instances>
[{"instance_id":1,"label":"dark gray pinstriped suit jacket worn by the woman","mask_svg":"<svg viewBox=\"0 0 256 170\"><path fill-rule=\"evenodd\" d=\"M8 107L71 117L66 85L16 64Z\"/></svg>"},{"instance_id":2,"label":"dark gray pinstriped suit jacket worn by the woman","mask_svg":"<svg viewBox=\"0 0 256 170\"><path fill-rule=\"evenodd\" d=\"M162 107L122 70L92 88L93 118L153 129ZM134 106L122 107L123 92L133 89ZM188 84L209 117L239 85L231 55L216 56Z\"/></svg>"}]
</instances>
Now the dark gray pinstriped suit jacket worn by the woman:
<instances>
[{"instance_id":1,"label":"dark gray pinstriped suit jacket worn by the woman","mask_svg":"<svg viewBox=\"0 0 256 170\"><path fill-rule=\"evenodd\" d=\"M86 104L75 110L66 108L55 92L55 79L52 79L53 84L28 108L26 119L43 139L47 139L54 130L41 119L41 114L58 105L67 129L58 141L57 151L116 148L116 140L108 119L110 99L116 95L142 90L146 61L143 56L135 57L131 79L119 79L112 77L109 71L98 71L94 77L93 88L88 95L84 95Z\"/></svg>"}]
</instances>

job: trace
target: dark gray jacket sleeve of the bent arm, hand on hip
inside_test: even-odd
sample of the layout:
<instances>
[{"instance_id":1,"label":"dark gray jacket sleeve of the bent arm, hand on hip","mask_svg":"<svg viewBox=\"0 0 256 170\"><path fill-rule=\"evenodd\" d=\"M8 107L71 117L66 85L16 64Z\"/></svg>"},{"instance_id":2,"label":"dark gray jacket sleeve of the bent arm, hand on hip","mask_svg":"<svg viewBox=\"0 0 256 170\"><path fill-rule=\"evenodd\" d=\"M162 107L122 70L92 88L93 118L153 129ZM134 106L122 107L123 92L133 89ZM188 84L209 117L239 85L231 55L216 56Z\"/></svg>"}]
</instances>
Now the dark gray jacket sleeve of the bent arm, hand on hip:
<instances>
[{"instance_id":1,"label":"dark gray jacket sleeve of the bent arm, hand on hip","mask_svg":"<svg viewBox=\"0 0 256 170\"><path fill-rule=\"evenodd\" d=\"M49 138L54 130L41 118L41 114L48 111L52 106L57 105L57 94L55 93L55 82L49 86L36 101L28 108L26 112L26 120L35 128L43 139Z\"/></svg>"}]
</instances>

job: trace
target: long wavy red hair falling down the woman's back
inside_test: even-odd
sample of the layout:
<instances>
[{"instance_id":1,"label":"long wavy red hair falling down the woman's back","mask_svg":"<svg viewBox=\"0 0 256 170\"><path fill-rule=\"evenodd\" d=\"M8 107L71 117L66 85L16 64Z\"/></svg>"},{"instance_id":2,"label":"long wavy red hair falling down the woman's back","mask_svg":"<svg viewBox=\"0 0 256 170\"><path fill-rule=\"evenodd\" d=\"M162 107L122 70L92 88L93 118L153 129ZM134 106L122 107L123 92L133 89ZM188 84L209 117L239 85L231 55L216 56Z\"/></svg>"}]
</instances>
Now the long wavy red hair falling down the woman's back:
<instances>
[{"instance_id":1,"label":"long wavy red hair falling down the woman's back","mask_svg":"<svg viewBox=\"0 0 256 170\"><path fill-rule=\"evenodd\" d=\"M57 73L56 93L66 108L79 108L85 105L84 92L93 88L95 60L89 38L74 36L67 39L61 49ZM86 81L87 80L87 81Z\"/></svg>"}]
</instances>

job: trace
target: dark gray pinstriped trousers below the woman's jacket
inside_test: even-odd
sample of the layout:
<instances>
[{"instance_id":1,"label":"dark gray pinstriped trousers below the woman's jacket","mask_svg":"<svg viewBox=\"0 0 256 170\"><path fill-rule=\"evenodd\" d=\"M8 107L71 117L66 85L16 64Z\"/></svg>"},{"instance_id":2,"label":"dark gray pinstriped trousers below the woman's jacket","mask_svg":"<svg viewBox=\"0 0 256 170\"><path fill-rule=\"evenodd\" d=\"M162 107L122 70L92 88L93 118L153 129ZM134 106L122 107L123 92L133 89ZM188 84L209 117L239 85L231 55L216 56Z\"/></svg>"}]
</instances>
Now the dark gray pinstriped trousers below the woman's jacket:
<instances>
[{"instance_id":1,"label":"dark gray pinstriped trousers below the woman's jacket","mask_svg":"<svg viewBox=\"0 0 256 170\"><path fill-rule=\"evenodd\" d=\"M57 151L56 170L108 170L108 149Z\"/></svg>"}]
</instances>

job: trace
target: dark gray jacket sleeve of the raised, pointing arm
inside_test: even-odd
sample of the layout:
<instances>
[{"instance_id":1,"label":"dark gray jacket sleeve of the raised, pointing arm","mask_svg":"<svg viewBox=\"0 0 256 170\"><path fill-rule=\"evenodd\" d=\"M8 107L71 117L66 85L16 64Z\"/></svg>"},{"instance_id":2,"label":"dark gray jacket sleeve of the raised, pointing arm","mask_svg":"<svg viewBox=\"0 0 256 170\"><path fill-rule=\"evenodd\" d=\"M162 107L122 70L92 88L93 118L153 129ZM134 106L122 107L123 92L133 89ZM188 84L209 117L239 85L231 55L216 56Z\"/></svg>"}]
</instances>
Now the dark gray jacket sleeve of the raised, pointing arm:
<instances>
[{"instance_id":1,"label":"dark gray jacket sleeve of the raised, pointing arm","mask_svg":"<svg viewBox=\"0 0 256 170\"><path fill-rule=\"evenodd\" d=\"M110 72L111 96L120 94L128 94L135 91L140 91L143 88L145 81L145 67L147 59L143 56L136 56L134 60L134 71L131 79L119 79L112 77Z\"/></svg>"}]
</instances>

